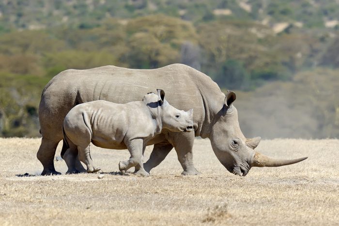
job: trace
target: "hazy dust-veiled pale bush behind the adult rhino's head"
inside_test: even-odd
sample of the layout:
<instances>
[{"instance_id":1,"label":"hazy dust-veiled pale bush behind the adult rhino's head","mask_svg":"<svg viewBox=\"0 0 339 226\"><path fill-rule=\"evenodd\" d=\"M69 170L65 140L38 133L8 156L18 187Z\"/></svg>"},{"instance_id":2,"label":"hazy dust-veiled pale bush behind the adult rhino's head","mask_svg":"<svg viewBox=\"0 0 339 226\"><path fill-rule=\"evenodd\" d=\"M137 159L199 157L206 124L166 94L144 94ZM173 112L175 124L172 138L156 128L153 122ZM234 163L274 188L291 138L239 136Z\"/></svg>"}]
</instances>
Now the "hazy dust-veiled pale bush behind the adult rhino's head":
<instances>
[{"instance_id":1,"label":"hazy dust-veiled pale bush behind the adult rhino's head","mask_svg":"<svg viewBox=\"0 0 339 226\"><path fill-rule=\"evenodd\" d=\"M317 68L293 81L237 92L239 123L248 137L338 138L339 71Z\"/></svg>"}]
</instances>

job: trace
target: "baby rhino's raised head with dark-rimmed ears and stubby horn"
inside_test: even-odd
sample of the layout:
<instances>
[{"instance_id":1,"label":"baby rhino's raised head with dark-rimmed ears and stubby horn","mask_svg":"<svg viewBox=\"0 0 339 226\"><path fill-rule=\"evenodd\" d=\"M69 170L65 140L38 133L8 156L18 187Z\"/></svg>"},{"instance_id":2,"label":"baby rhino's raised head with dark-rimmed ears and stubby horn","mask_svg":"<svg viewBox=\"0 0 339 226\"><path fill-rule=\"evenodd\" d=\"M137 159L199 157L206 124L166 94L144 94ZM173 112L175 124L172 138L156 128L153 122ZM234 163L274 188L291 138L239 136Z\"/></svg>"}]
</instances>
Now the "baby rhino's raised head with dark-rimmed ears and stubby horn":
<instances>
[{"instance_id":1,"label":"baby rhino's raised head with dark-rimmed ears and stubby horn","mask_svg":"<svg viewBox=\"0 0 339 226\"><path fill-rule=\"evenodd\" d=\"M143 101L150 108L151 113L161 120L162 128L173 132L193 131L193 109L185 112L174 108L165 99L165 91L157 89L157 95L149 93Z\"/></svg>"}]
</instances>

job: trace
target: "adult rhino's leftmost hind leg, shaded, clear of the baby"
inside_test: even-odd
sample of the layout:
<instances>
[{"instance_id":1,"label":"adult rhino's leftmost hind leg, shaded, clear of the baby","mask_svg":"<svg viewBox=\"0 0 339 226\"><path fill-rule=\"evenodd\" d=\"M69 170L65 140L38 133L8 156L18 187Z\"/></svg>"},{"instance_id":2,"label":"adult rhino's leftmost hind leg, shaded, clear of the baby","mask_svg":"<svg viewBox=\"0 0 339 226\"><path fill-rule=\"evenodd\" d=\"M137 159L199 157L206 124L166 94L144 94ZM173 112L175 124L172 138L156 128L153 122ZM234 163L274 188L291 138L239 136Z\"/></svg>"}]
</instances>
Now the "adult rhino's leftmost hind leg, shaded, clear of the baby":
<instances>
[{"instance_id":1,"label":"adult rhino's leftmost hind leg, shaded, clear of the baby","mask_svg":"<svg viewBox=\"0 0 339 226\"><path fill-rule=\"evenodd\" d=\"M60 140L51 140L47 138L41 139L41 145L39 147L38 152L36 153L36 157L43 164L44 170L41 175L58 175L61 174L55 171L54 168L54 155L55 150L59 144Z\"/></svg>"}]
</instances>

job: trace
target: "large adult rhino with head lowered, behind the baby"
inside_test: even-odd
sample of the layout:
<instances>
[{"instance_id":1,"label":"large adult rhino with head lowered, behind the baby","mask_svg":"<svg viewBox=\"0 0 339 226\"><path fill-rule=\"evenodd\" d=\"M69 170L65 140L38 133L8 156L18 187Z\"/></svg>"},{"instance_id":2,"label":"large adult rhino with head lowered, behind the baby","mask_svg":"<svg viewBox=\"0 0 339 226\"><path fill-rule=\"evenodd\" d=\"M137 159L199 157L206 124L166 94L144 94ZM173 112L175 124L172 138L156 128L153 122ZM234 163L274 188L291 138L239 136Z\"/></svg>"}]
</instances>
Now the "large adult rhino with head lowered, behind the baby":
<instances>
[{"instance_id":1,"label":"large adult rhino with head lowered, behind the baby","mask_svg":"<svg viewBox=\"0 0 339 226\"><path fill-rule=\"evenodd\" d=\"M173 64L157 69L128 69L103 66L86 70L65 70L49 81L43 90L39 120L42 141L37 158L44 166L42 175L60 174L54 168L54 155L62 140L62 123L77 104L108 100L125 104L136 101L156 88L167 90L167 100L177 109L194 109L194 133L164 129L147 145L154 145L147 172L165 159L174 147L184 175L199 174L193 165L194 136L209 138L218 160L233 174L246 176L253 166L282 166L303 161L276 160L254 151L260 137L247 139L240 130L233 106L235 94L221 92L210 77L187 65ZM66 149L63 144L62 152ZM79 163L79 162L78 162ZM84 170L81 164L78 170Z\"/></svg>"}]
</instances>

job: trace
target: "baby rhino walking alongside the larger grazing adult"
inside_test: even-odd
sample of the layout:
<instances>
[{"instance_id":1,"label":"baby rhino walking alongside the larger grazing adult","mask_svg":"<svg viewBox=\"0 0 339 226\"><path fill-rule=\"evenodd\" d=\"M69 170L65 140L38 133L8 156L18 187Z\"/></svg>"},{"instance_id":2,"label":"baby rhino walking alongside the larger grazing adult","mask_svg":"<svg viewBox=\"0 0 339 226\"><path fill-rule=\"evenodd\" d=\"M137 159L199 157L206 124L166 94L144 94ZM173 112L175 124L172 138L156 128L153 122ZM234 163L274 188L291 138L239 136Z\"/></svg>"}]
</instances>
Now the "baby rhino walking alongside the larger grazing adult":
<instances>
[{"instance_id":1,"label":"baby rhino walking alongside the larger grazing adult","mask_svg":"<svg viewBox=\"0 0 339 226\"><path fill-rule=\"evenodd\" d=\"M142 157L148 141L162 129L174 132L193 131L193 109L188 112L172 107L165 100L165 92L149 93L142 101L116 104L96 100L75 106L65 117L63 135L68 146L63 158L67 173L77 173L76 158L87 166L87 172L97 172L90 143L111 148L128 149L131 157L119 162L122 174L131 167L140 176L149 174L143 168Z\"/></svg>"}]
</instances>

